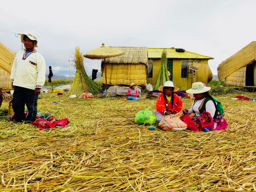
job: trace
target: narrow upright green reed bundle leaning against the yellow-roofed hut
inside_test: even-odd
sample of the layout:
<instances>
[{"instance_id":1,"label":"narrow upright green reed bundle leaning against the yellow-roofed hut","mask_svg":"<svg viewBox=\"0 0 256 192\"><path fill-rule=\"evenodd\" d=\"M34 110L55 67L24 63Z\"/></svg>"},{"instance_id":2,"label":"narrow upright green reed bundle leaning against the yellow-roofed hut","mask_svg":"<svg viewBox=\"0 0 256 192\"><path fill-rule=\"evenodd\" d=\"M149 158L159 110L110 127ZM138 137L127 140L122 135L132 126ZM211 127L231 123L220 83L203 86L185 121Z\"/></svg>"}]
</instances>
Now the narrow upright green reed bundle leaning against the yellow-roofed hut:
<instances>
[{"instance_id":1,"label":"narrow upright green reed bundle leaning against the yellow-roofed hut","mask_svg":"<svg viewBox=\"0 0 256 192\"><path fill-rule=\"evenodd\" d=\"M161 55L161 67L159 69L158 78L155 81L154 84L154 90L158 90L158 88L166 81L169 81L168 78L168 70L167 70L167 52L164 50Z\"/></svg>"}]
</instances>

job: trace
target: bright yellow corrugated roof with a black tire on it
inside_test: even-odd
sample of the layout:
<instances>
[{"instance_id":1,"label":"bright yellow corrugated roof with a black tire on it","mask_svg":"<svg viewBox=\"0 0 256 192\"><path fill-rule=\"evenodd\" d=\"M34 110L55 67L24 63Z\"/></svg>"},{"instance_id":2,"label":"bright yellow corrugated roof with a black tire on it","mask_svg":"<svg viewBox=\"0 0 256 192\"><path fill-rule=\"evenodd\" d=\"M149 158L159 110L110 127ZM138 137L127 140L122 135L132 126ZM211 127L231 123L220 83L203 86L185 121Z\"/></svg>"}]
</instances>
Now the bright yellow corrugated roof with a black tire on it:
<instances>
[{"instance_id":1,"label":"bright yellow corrugated roof with a black tire on it","mask_svg":"<svg viewBox=\"0 0 256 192\"><path fill-rule=\"evenodd\" d=\"M161 58L162 52L167 51L167 58L177 59L214 59L205 55L186 51L183 53L176 52L175 48L148 48L148 58Z\"/></svg>"}]
</instances>

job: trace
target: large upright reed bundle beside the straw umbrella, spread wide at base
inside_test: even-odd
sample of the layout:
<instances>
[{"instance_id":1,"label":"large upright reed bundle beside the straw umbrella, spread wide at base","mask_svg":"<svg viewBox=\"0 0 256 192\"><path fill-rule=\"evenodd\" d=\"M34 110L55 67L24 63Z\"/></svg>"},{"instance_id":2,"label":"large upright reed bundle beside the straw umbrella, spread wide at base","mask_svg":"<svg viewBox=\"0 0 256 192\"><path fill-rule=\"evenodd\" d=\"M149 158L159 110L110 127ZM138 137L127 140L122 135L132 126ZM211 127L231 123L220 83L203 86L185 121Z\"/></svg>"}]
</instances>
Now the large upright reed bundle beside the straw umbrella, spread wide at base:
<instances>
[{"instance_id":1,"label":"large upright reed bundle beside the straw umbrella, spread wide at base","mask_svg":"<svg viewBox=\"0 0 256 192\"><path fill-rule=\"evenodd\" d=\"M75 48L75 66L76 66L76 74L71 85L69 95L79 96L84 92L90 92L92 94L98 94L101 90L100 85L91 80L89 76L86 74L84 68L84 57L80 52L80 48Z\"/></svg>"}]
</instances>

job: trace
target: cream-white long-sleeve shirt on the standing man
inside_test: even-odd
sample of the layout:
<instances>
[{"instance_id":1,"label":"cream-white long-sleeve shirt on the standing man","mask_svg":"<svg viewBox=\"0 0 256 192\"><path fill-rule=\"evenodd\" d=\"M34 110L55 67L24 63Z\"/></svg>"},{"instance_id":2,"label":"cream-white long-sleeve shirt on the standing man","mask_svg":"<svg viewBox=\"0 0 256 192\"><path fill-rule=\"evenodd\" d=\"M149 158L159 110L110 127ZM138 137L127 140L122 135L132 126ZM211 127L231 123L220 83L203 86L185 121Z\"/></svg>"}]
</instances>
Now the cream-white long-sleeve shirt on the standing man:
<instances>
[{"instance_id":1,"label":"cream-white long-sleeve shirt on the standing man","mask_svg":"<svg viewBox=\"0 0 256 192\"><path fill-rule=\"evenodd\" d=\"M27 89L41 88L45 82L46 63L43 56L33 51L25 60L25 49L18 52L14 58L11 69L11 81L13 85Z\"/></svg>"}]
</instances>

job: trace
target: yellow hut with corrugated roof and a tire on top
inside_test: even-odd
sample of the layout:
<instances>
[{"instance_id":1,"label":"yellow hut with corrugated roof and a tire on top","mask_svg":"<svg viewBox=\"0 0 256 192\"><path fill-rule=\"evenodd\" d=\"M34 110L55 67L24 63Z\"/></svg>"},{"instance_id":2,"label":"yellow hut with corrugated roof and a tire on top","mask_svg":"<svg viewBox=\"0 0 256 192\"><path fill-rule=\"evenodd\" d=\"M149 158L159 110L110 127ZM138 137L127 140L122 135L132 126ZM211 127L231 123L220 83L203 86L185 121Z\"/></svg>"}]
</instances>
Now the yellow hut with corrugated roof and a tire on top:
<instances>
[{"instance_id":1,"label":"yellow hut with corrugated roof and a tire on top","mask_svg":"<svg viewBox=\"0 0 256 192\"><path fill-rule=\"evenodd\" d=\"M193 82L203 82L207 85L213 78L208 65L209 59L205 55L188 52L176 48L148 48L148 70L146 81L154 85L161 67L162 52L167 52L167 69L170 72L170 80L181 91L191 88Z\"/></svg>"}]
</instances>

